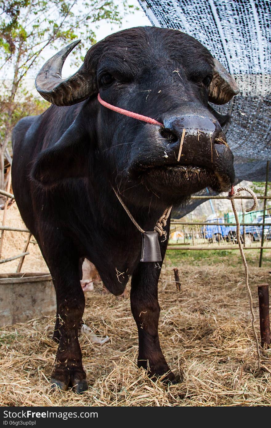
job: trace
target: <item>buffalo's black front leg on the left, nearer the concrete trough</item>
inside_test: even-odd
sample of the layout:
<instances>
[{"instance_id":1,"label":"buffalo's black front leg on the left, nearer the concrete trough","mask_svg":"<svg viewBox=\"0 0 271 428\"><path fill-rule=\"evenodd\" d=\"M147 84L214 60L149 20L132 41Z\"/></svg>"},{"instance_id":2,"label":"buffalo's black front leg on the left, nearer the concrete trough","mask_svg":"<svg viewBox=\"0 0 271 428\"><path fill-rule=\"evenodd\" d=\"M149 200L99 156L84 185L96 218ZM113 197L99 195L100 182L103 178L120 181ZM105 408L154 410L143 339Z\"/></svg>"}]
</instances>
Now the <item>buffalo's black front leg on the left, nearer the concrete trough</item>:
<instances>
[{"instance_id":1,"label":"buffalo's black front leg on the left, nearer the concrete trough","mask_svg":"<svg viewBox=\"0 0 271 428\"><path fill-rule=\"evenodd\" d=\"M58 245L58 248L69 249L67 243ZM69 254L72 254L72 250L69 250ZM85 391L88 385L78 342L78 329L85 307L78 261L67 254L56 256L54 253L54 260L47 257L46 262L56 290L57 322L54 338L59 341L51 383L53 387L64 391L71 386L80 393Z\"/></svg>"}]
</instances>

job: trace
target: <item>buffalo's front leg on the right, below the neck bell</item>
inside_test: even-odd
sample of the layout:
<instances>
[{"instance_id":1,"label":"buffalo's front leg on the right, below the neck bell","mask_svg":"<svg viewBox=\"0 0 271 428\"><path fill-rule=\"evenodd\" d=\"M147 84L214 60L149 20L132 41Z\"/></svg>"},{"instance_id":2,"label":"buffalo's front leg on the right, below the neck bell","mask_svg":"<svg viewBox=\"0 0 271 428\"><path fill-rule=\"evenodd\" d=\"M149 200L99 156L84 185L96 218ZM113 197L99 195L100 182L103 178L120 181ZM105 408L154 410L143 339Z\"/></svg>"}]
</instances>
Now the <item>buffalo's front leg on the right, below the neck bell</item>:
<instances>
[{"instance_id":1,"label":"buffalo's front leg on the right, below the neck bell","mask_svg":"<svg viewBox=\"0 0 271 428\"><path fill-rule=\"evenodd\" d=\"M139 339L137 365L146 369L150 377L167 373L164 380L174 383L175 376L162 354L158 337L160 270L156 263L141 262L132 276L131 310L137 323Z\"/></svg>"}]
</instances>

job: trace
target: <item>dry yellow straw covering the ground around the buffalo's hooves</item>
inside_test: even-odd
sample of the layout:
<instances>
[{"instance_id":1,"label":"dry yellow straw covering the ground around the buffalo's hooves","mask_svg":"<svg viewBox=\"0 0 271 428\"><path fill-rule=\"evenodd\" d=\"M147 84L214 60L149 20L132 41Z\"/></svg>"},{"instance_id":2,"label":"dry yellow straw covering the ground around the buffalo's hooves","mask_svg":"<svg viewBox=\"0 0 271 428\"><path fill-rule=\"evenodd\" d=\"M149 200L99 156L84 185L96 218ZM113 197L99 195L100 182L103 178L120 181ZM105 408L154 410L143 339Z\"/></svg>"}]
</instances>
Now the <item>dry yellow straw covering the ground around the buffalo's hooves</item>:
<instances>
[{"instance_id":1,"label":"dry yellow straw covering the ground around the buffalo's hooves","mask_svg":"<svg viewBox=\"0 0 271 428\"><path fill-rule=\"evenodd\" d=\"M271 350L262 352L264 370L255 376L256 352L244 288L244 270L225 265L181 267L176 291L172 267L159 283L161 348L182 383L164 386L138 370L137 329L128 299L86 296L84 322L104 345L80 336L89 389L52 392L50 375L57 345L53 318L32 320L0 332L0 404L6 406L268 406L271 404ZM270 268L269 268L270 269ZM257 317L256 286L269 282L268 268L250 267Z\"/></svg>"}]
</instances>

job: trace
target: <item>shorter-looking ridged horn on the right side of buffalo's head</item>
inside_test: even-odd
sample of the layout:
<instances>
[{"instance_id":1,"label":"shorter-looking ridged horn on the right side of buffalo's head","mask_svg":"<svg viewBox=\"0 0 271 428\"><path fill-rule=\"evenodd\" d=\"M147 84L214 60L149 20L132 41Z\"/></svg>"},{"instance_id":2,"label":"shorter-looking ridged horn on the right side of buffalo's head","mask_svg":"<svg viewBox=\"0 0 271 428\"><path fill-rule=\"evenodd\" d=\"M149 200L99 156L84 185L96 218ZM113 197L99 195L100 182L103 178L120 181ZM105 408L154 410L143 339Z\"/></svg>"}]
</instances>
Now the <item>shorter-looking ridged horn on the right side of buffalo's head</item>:
<instances>
[{"instance_id":1,"label":"shorter-looking ridged horn on the right side of buffalo's head","mask_svg":"<svg viewBox=\"0 0 271 428\"><path fill-rule=\"evenodd\" d=\"M214 77L209 88L209 101L214 104L226 104L238 93L239 88L234 78L214 58Z\"/></svg>"}]
</instances>

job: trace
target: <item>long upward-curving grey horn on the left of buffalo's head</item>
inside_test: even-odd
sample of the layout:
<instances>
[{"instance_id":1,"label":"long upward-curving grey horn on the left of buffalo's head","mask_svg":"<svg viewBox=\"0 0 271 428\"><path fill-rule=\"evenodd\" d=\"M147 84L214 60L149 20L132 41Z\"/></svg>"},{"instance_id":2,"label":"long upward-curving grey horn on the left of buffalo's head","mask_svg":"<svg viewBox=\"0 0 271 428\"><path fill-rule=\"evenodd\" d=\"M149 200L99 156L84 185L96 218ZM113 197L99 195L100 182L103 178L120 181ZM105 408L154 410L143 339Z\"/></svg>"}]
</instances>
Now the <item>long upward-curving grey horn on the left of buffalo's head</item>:
<instances>
[{"instance_id":1,"label":"long upward-curving grey horn on the left of buffalo's head","mask_svg":"<svg viewBox=\"0 0 271 428\"><path fill-rule=\"evenodd\" d=\"M84 64L72 76L62 79L61 71L68 54L80 40L56 53L45 62L36 77L37 91L45 100L57 106L70 106L85 100L96 91L95 79L84 69Z\"/></svg>"}]
</instances>

